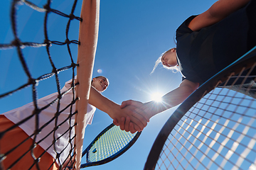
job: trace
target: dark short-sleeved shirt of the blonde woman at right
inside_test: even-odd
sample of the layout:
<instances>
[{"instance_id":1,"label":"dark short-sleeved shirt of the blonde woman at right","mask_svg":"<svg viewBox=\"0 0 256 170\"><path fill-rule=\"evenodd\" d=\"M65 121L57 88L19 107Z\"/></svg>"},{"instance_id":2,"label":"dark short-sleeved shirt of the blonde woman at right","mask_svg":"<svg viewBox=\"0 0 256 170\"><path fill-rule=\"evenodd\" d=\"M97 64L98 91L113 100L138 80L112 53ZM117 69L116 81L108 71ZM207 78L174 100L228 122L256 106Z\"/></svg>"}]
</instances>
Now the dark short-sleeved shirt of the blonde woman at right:
<instances>
[{"instance_id":1,"label":"dark short-sleeved shirt of the blonde woman at right","mask_svg":"<svg viewBox=\"0 0 256 170\"><path fill-rule=\"evenodd\" d=\"M198 31L188 28L195 17L176 30L177 60L183 79L203 84L256 45L256 1Z\"/></svg>"}]
</instances>

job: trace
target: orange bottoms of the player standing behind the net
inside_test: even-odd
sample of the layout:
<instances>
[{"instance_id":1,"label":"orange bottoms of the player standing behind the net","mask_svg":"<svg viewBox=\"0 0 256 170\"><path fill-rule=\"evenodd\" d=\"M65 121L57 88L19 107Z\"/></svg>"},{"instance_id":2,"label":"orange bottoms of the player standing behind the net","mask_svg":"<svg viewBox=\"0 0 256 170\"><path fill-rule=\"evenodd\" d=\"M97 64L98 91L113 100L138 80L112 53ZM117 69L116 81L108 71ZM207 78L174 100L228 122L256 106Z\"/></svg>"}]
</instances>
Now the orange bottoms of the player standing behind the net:
<instances>
[{"instance_id":1,"label":"orange bottoms of the player standing behind the net","mask_svg":"<svg viewBox=\"0 0 256 170\"><path fill-rule=\"evenodd\" d=\"M7 119L4 115L0 115L0 131L4 131L7 128L10 128L13 126L14 123L11 122L11 120ZM19 127L14 128L13 130L10 130L4 134L4 136L0 139L0 154L6 154L6 152L9 152L10 149L16 147L19 145L23 140L26 140L28 138L28 135L26 132L23 132L23 130ZM31 148L31 145L33 144L33 140L29 138L26 140L26 142L23 142L23 144L19 145L16 149L14 149L13 152L10 152L6 155L6 158L4 159L1 164L4 166L4 169L9 169L9 167L16 162L17 159L20 159L14 166L11 166L11 169L29 169L33 163L34 159L31 156L31 152L28 151L29 148ZM45 150L37 145L33 149L33 154L36 158L40 157L40 155L45 152ZM26 154L25 154L26 153ZM22 155L25 154L23 157ZM54 162L53 157L46 152L43 154L43 156L40 159L40 162L38 162L38 166L40 169L58 169L58 164ZM0 166L1 169L1 166ZM37 169L36 164L33 165L32 169Z\"/></svg>"}]
</instances>

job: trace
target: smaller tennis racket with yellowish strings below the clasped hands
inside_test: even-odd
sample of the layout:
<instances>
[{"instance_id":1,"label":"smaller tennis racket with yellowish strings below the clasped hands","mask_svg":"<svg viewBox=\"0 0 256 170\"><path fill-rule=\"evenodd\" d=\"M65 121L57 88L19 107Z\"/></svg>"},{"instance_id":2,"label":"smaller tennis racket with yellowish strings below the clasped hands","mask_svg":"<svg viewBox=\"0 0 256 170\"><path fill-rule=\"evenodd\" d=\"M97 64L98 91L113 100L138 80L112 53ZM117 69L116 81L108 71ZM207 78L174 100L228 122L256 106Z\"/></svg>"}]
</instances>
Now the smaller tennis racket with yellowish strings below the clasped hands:
<instances>
[{"instance_id":1,"label":"smaller tennis racket with yellowish strings below the clasped hands","mask_svg":"<svg viewBox=\"0 0 256 170\"><path fill-rule=\"evenodd\" d=\"M141 133L126 132L112 123L82 152L82 157L86 154L86 164L81 164L80 168L111 162L132 147Z\"/></svg>"}]
</instances>

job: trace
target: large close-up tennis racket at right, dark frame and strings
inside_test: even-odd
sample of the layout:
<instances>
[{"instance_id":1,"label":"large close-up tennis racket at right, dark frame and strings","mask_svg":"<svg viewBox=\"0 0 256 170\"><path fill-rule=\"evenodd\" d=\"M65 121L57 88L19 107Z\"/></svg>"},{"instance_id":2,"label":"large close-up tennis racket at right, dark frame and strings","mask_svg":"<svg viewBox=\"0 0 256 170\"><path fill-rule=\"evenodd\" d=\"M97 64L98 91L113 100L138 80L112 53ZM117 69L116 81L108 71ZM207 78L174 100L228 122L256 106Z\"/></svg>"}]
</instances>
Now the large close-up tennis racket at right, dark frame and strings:
<instances>
[{"instance_id":1,"label":"large close-up tennis racket at right, dark frame and strings","mask_svg":"<svg viewBox=\"0 0 256 170\"><path fill-rule=\"evenodd\" d=\"M255 66L256 47L181 103L144 169L256 169Z\"/></svg>"}]
</instances>

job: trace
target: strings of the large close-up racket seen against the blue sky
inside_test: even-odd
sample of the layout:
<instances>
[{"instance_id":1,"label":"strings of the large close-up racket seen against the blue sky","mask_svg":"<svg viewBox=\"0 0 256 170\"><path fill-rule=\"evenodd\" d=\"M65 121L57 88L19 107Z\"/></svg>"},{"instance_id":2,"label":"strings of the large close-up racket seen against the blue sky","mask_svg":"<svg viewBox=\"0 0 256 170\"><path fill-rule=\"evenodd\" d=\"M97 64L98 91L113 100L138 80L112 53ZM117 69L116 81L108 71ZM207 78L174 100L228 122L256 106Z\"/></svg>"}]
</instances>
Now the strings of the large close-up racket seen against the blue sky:
<instances>
[{"instance_id":1,"label":"strings of the large close-up racket seen against the blue sky","mask_svg":"<svg viewBox=\"0 0 256 170\"><path fill-rule=\"evenodd\" d=\"M223 102L226 98L230 102ZM227 89L210 92L171 132L157 162L158 169L253 166L255 157L250 156L256 154L256 135L252 136L256 132L255 106L253 98L238 92Z\"/></svg>"}]
</instances>

